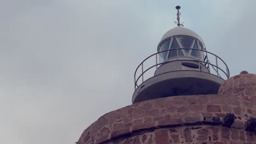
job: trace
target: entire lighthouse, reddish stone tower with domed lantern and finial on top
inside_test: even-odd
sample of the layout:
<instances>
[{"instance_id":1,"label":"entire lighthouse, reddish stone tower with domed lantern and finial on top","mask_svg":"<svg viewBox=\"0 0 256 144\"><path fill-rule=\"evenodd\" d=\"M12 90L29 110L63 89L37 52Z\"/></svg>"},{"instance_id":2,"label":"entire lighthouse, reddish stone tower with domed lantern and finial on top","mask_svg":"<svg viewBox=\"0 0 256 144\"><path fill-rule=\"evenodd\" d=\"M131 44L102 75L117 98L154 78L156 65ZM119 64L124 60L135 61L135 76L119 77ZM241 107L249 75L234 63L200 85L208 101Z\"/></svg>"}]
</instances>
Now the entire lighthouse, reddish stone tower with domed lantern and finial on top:
<instances>
[{"instance_id":1,"label":"entire lighthouse, reddish stone tower with domed lantern and finial on top","mask_svg":"<svg viewBox=\"0 0 256 144\"><path fill-rule=\"evenodd\" d=\"M177 27L135 71L133 104L100 117L78 144L256 143L256 75L229 78L225 62L179 22L180 8Z\"/></svg>"}]
</instances>

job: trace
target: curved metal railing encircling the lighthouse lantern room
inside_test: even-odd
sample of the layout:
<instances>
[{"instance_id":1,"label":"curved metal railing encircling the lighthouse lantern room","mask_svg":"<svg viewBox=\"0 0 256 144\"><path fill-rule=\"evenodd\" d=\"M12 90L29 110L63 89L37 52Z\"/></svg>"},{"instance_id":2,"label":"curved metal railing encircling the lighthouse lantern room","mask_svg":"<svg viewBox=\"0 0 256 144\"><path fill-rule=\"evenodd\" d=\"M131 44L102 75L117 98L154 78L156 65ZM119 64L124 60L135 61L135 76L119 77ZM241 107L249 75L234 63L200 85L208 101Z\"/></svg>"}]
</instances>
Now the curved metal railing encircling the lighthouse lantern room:
<instances>
[{"instance_id":1,"label":"curved metal railing encircling the lighthouse lantern room","mask_svg":"<svg viewBox=\"0 0 256 144\"><path fill-rule=\"evenodd\" d=\"M197 51L198 52L197 59L181 59L181 58L179 58L181 56L178 55L178 50L183 50L183 49ZM158 62L158 57L160 58L160 56L158 56L158 55L160 53L164 53L164 52L170 53L170 52L173 52L173 51L176 51L175 59L168 60L168 61L165 61L165 62ZM144 63L147 62L148 59L152 58L152 57L155 57L155 64L153 64L153 65L150 64L151 66L149 68L145 69L144 68ZM209 61L208 57L215 57L215 64L211 63ZM183 56L183 58L184 58L184 56ZM205 65L205 67L208 69L208 72L210 74L214 74L214 75L217 75L218 77L222 78L222 76L220 74L220 72L222 72L222 74L224 74L224 76L226 76L227 79L229 78L228 65L226 65L226 63L220 57L218 57L217 55L215 55L211 52L205 51L205 50L190 49L190 48L179 48L179 49L171 49L171 50L165 50L165 51L157 52L157 53L154 53L153 55L150 55L146 59L144 59L144 61L142 61L141 64L139 64L138 67L135 70L135 74L134 74L135 89L138 87L138 85L140 85L141 83L144 82L144 75L147 71L149 71L150 69L152 69L154 67L157 70L159 65L170 63L170 62L175 62L175 61L177 61L177 62L179 62L179 61L197 62L197 63L199 63L199 67L200 67L200 64ZM220 68L220 65L222 65L222 68ZM138 72L139 67L141 67L141 73ZM178 63L177 63L177 70L179 70ZM166 71L166 72L170 72L170 71ZM201 71L201 69L199 69L199 71ZM139 75L139 76L136 77L136 75ZM153 74L153 76L156 76L156 75ZM153 76L151 76L151 77L153 77ZM148 79L150 79L151 77L149 77ZM141 79L142 82L138 84L139 79ZM146 79L146 80L148 80L148 79Z\"/></svg>"}]
</instances>

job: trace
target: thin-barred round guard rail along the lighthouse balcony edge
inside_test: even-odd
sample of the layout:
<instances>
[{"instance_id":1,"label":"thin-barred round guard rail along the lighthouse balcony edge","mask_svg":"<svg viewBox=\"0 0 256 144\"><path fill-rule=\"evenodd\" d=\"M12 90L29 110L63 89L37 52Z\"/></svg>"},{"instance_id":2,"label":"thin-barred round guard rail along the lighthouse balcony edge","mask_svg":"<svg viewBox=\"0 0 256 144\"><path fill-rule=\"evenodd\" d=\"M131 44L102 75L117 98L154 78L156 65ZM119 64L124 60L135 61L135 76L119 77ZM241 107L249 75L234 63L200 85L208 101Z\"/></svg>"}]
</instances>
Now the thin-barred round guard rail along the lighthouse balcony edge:
<instances>
[{"instance_id":1,"label":"thin-barred round guard rail along the lighthouse balcony edge","mask_svg":"<svg viewBox=\"0 0 256 144\"><path fill-rule=\"evenodd\" d=\"M158 60L157 60L157 55L159 55L159 53L167 52L167 51L175 51L175 50L178 52L178 50L182 50L182 49L189 49L189 50L202 51L202 52L206 52L206 54L207 54L207 53L210 53L211 55L213 55L213 56L216 57L216 64L217 64L217 65L214 65L214 64L210 63L210 61L208 60L208 57L207 57L207 59L206 59L206 60L207 60L206 62L200 61L200 58L199 58L198 60L196 60L196 59L194 59L194 60L191 60L191 59L178 59L178 57L179 57L179 56L178 56L178 53L177 53L177 59L174 59L173 61L165 61L165 62L162 62L162 63L157 63L157 61L158 61ZM169 53L170 53L170 52L169 52ZM147 59L149 59L150 57L155 56L155 55L156 55L156 64L154 64L152 67L149 67L147 70L143 70L143 63L144 63L145 61L147 61ZM186 57L186 56L185 56L185 57ZM200 56L199 56L199 57L200 57ZM223 69L221 69L221 68L218 67L218 59L220 59L220 61L223 62L223 64L225 65L225 67L226 67L226 72L225 72ZM199 49L177 48L177 49L170 49L170 50L164 50L164 51L156 52L156 53L154 53L154 54L148 56L146 59L144 59L144 60L138 65L138 67L137 67L136 70L135 70L135 74L134 74L135 89L136 89L136 86L138 87L137 82L138 82L139 78L140 78L141 76L143 76L143 74L146 73L146 71L148 71L149 69L152 69L153 67L156 67L156 69L157 69L157 68L158 68L158 65L160 65L160 64L170 63L170 62L174 62L174 61L194 61L194 62L199 62L199 63L200 63L200 62L201 62L201 63L205 63L205 64L208 64L208 65L211 65L212 68L217 72L217 76L219 76L220 78L222 78L222 77L219 75L218 69L220 69L221 71L223 71L223 73L226 75L227 78L229 78L229 76L230 76L230 75L229 75L229 68L228 68L228 65L226 65L226 63L223 61L222 58L218 57L218 56L215 55L214 53L208 52L208 51L206 51L206 50L199 50ZM139 75L138 78L137 78L137 80L136 80L137 70L138 70L138 68L141 67L141 66L142 66L142 74ZM216 70L214 67L216 67L217 70ZM210 72L210 71L209 71L209 72ZM149 78L149 79L150 79L150 78ZM144 80L143 80L143 81L144 81Z\"/></svg>"}]
</instances>

